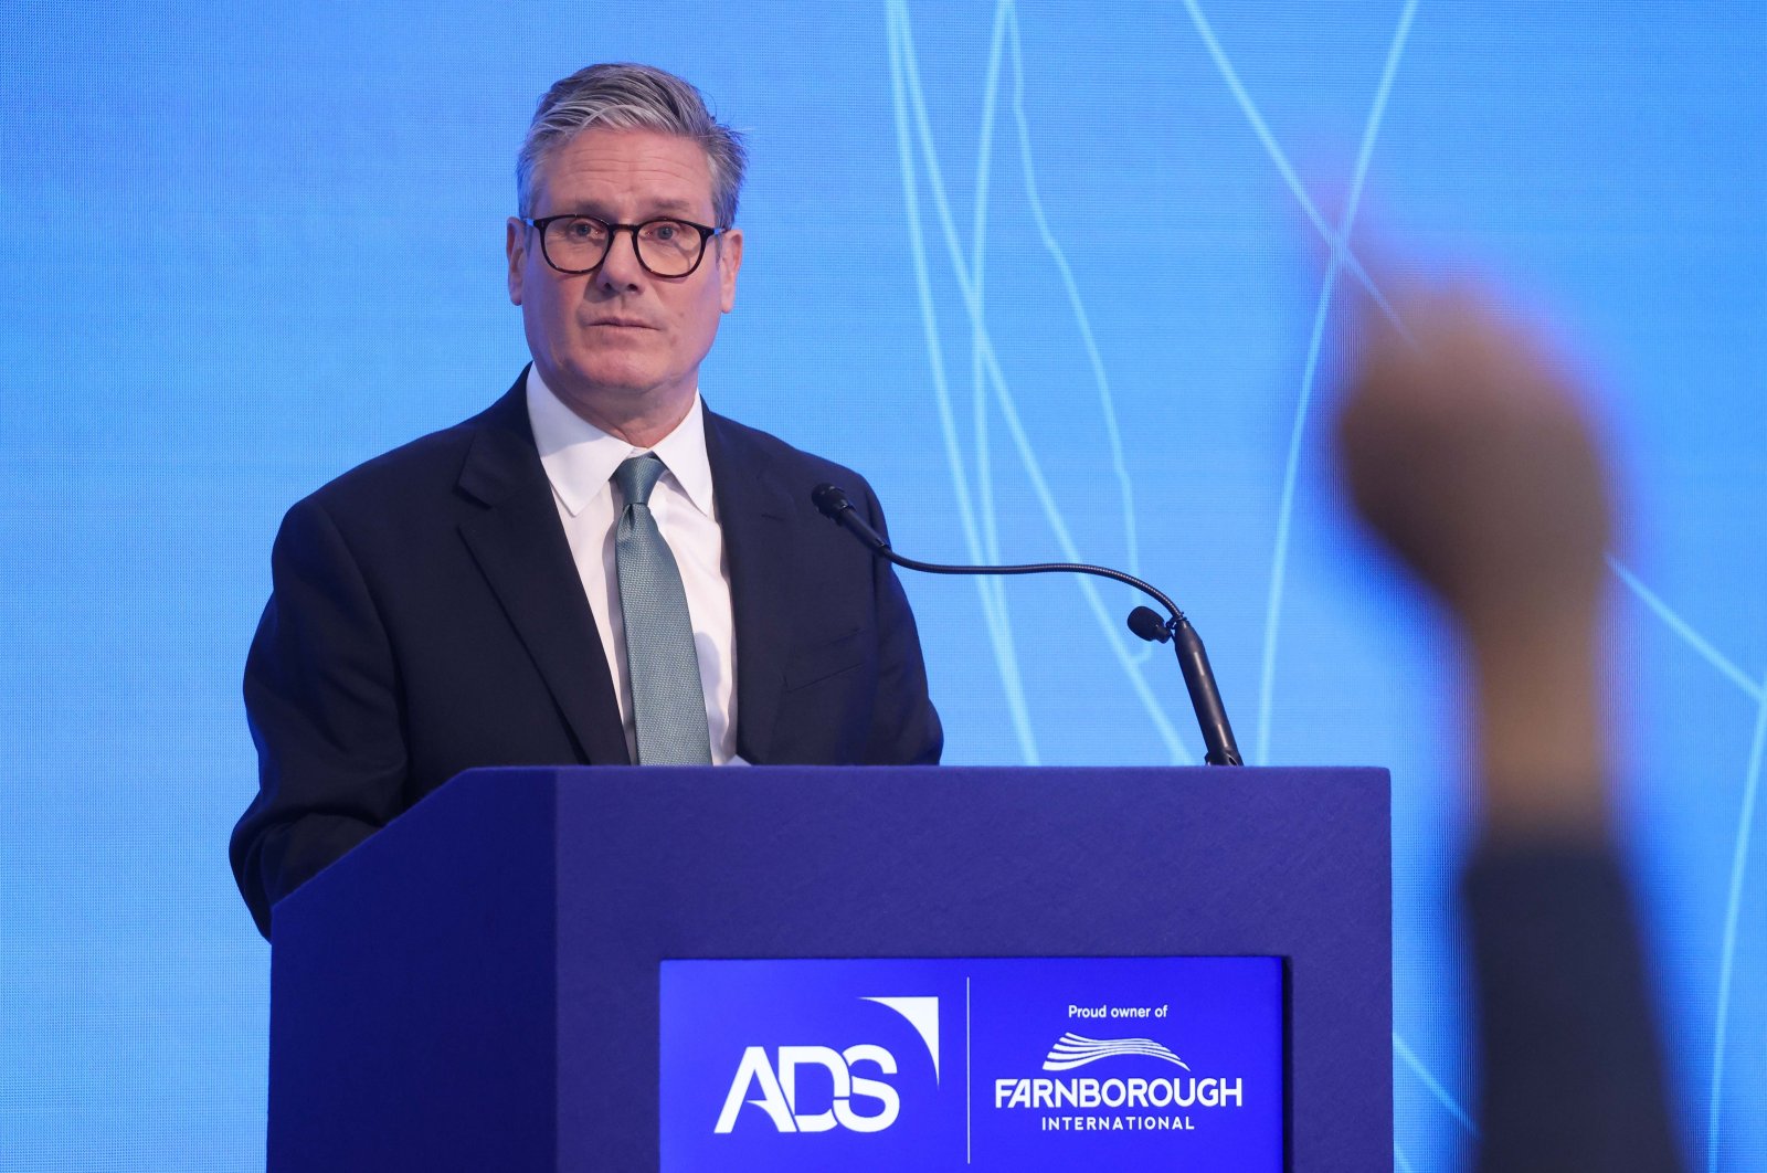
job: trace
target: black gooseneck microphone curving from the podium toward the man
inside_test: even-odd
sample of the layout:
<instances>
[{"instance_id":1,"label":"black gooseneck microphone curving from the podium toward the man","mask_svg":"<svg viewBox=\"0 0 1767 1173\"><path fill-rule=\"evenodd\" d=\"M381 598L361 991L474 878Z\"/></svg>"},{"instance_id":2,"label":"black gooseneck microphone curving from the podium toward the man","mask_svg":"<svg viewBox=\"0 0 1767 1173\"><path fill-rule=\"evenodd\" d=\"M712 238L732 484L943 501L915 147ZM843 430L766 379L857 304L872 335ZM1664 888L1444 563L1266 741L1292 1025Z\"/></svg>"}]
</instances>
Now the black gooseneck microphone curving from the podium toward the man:
<instances>
[{"instance_id":1,"label":"black gooseneck microphone curving from the podium toward the man","mask_svg":"<svg viewBox=\"0 0 1767 1173\"><path fill-rule=\"evenodd\" d=\"M1149 643L1166 643L1168 639L1173 643L1173 650L1179 654L1179 670L1184 673L1184 687L1191 694L1191 708L1196 710L1196 724L1203 733L1203 745L1207 749L1203 761L1209 765L1244 765L1239 756L1239 745L1233 742L1233 728L1226 723L1221 689L1216 687L1214 671L1209 668L1209 654L1203 650L1202 638L1191 627L1191 620L1184 618L1184 611L1149 583L1122 571L1087 565L1083 562L1030 562L1025 565L944 565L938 562L917 562L903 558L891 549L884 535L873 530L859 516L859 511L853 509L853 503L846 498L846 489L832 484L818 484L811 491L809 500L815 502L825 518L845 526L846 532L864 542L875 556L908 571L921 571L924 574L1092 574L1134 586L1141 594L1157 599L1172 618L1163 620L1150 608L1136 608L1129 615L1129 631Z\"/></svg>"}]
</instances>

